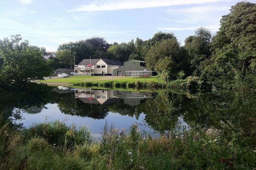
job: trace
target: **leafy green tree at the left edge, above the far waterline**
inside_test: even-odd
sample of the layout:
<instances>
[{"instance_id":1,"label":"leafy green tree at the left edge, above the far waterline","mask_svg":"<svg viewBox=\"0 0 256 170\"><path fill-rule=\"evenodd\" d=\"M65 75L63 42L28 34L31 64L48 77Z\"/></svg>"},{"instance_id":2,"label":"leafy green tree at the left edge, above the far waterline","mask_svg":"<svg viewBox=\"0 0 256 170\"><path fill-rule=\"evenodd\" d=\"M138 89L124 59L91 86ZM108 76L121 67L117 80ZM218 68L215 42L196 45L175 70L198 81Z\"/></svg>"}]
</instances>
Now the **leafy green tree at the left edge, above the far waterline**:
<instances>
[{"instance_id":1,"label":"leafy green tree at the left edge, above the far waterline","mask_svg":"<svg viewBox=\"0 0 256 170\"><path fill-rule=\"evenodd\" d=\"M12 35L11 40L0 40L0 80L10 84L29 80L42 80L53 70L47 65L38 48L30 48L27 40L20 35Z\"/></svg>"}]
</instances>

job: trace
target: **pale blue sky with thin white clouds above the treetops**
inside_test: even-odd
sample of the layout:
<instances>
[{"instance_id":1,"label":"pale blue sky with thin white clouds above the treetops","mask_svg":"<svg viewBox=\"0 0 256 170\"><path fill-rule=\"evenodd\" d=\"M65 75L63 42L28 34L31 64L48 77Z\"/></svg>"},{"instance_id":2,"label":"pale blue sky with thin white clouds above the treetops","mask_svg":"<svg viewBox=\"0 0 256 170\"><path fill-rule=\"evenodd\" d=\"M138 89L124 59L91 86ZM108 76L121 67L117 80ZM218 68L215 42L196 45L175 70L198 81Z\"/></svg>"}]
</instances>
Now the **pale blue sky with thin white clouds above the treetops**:
<instances>
[{"instance_id":1,"label":"pale blue sky with thin white clouds above the treetops","mask_svg":"<svg viewBox=\"0 0 256 170\"><path fill-rule=\"evenodd\" d=\"M30 45L56 51L92 36L109 43L148 40L172 32L181 45L197 28L213 34L237 0L0 0L0 39L21 34ZM249 0L256 3L256 0Z\"/></svg>"}]
</instances>

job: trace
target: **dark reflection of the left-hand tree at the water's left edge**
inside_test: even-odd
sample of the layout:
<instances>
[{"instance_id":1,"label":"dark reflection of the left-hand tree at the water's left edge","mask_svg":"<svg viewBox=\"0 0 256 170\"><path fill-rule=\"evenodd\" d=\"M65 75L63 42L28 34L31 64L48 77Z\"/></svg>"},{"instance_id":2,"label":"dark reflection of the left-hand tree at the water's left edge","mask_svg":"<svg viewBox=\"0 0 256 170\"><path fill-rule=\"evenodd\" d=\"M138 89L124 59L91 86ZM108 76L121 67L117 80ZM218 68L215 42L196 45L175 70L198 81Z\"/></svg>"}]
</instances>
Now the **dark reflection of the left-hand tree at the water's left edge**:
<instances>
[{"instance_id":1,"label":"dark reflection of the left-hand tree at the water's left edge","mask_svg":"<svg viewBox=\"0 0 256 170\"><path fill-rule=\"evenodd\" d=\"M36 83L12 84L7 88L0 88L1 124L12 124L13 120L22 119L22 111L29 110L30 108L40 110L45 104L53 102L54 95L51 92L52 88ZM22 124L12 125L17 128L22 126Z\"/></svg>"}]
</instances>

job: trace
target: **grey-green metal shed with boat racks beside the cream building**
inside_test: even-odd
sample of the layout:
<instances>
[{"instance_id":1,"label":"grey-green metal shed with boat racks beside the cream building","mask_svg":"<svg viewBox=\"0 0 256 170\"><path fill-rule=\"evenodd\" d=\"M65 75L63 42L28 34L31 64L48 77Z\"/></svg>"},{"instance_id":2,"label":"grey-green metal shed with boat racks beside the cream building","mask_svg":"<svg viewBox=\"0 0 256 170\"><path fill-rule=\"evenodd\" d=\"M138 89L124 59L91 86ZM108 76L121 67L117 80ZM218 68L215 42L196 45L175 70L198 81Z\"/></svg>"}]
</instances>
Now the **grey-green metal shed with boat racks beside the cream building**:
<instances>
[{"instance_id":1,"label":"grey-green metal shed with boat racks beside the cream building","mask_svg":"<svg viewBox=\"0 0 256 170\"><path fill-rule=\"evenodd\" d=\"M123 64L113 70L113 76L152 76L153 71L146 68L144 61L129 60Z\"/></svg>"}]
</instances>

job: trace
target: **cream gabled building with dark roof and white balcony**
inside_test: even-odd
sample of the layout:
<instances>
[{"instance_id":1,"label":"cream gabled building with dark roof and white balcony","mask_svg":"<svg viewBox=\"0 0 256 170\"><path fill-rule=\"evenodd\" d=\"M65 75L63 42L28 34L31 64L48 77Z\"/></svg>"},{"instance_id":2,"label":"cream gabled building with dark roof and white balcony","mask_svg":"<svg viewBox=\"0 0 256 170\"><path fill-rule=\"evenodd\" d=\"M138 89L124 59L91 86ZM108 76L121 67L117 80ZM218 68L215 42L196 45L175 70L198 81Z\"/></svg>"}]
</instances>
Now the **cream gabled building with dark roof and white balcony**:
<instances>
[{"instance_id":1,"label":"cream gabled building with dark roof and white balcony","mask_svg":"<svg viewBox=\"0 0 256 170\"><path fill-rule=\"evenodd\" d=\"M75 75L111 76L113 70L122 65L119 60L84 59L75 66Z\"/></svg>"}]
</instances>

